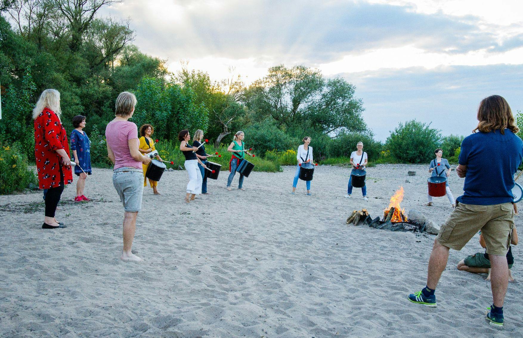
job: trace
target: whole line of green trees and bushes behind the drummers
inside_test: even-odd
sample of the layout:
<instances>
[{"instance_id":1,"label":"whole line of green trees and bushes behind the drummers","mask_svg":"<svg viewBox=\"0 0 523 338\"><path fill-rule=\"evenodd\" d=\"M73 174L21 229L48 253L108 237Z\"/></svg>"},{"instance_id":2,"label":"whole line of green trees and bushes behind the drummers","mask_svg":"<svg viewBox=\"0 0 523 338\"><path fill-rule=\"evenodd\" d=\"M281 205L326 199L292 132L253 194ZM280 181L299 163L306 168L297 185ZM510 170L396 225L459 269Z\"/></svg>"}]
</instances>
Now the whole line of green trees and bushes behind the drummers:
<instances>
[{"instance_id":1,"label":"whole line of green trees and bushes behind the drummers","mask_svg":"<svg viewBox=\"0 0 523 338\"><path fill-rule=\"evenodd\" d=\"M219 148L243 130L261 156L296 149L304 136L312 137L315 158L325 163L346 162L358 141L377 163L426 163L436 147L456 156L462 137L444 138L415 120L400 123L384 144L374 140L355 87L316 69L277 65L248 86L234 69L221 81L187 64L169 73L165 60L132 44L129 22L97 16L114 2L0 0L2 144L18 142L33 159L31 110L43 89L55 88L68 131L75 115L87 117L95 163L108 163L103 134L122 91L138 98L132 121L151 123L162 142L176 143L181 129L202 129Z\"/></svg>"}]
</instances>

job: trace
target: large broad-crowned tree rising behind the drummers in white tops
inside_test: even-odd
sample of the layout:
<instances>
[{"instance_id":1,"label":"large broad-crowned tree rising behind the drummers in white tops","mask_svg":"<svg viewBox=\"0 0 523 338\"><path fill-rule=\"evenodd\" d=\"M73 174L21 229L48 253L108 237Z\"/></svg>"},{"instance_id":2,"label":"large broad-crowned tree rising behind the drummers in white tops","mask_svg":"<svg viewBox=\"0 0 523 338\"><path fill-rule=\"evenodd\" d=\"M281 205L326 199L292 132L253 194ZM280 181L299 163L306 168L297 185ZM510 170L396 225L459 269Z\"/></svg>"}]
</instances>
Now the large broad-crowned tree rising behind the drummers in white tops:
<instances>
[{"instance_id":1,"label":"large broad-crowned tree rising behind the drummers in white tops","mask_svg":"<svg viewBox=\"0 0 523 338\"><path fill-rule=\"evenodd\" d=\"M274 118L280 128L293 128L304 120L335 137L344 130L366 130L362 102L355 87L342 78L325 80L318 70L279 65L245 91L245 104L256 119Z\"/></svg>"}]
</instances>

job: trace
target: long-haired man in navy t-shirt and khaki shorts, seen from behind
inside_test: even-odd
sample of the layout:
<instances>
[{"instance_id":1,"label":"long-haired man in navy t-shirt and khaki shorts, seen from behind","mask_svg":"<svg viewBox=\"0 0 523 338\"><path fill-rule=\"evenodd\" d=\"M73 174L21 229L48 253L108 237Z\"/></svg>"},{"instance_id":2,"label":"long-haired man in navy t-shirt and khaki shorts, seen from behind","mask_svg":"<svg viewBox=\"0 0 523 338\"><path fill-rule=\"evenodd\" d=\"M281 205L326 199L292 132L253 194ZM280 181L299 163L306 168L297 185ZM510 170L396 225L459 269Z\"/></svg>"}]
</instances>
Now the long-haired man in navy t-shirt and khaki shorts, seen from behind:
<instances>
[{"instance_id":1,"label":"long-haired man in navy t-shirt and khaki shorts, seen from behind","mask_svg":"<svg viewBox=\"0 0 523 338\"><path fill-rule=\"evenodd\" d=\"M508 284L506 254L514 227L511 189L514 173L523 159L523 141L506 100L492 95L482 100L474 133L461 143L456 172L465 177L464 194L441 226L430 254L427 286L408 296L413 303L436 307L434 292L447 266L449 249L461 250L481 230L491 261L493 305L487 313L491 325L502 326L503 302ZM479 132L476 132L479 131Z\"/></svg>"}]
</instances>

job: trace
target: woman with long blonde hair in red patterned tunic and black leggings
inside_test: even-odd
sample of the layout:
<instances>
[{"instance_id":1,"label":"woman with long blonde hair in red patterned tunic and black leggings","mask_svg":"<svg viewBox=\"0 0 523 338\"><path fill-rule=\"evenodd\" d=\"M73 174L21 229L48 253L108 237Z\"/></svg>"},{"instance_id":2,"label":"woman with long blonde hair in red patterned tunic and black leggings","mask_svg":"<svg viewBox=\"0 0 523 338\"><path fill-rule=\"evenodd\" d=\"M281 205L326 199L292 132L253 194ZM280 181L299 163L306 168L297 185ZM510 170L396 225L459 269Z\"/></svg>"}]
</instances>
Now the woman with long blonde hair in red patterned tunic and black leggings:
<instances>
[{"instance_id":1,"label":"woman with long blonde hair in red patterned tunic and black leggings","mask_svg":"<svg viewBox=\"0 0 523 338\"><path fill-rule=\"evenodd\" d=\"M73 183L69 141L60 114L60 93L55 89L46 89L33 109L38 182L40 189L48 189L42 229L66 228L54 218L64 185Z\"/></svg>"}]
</instances>

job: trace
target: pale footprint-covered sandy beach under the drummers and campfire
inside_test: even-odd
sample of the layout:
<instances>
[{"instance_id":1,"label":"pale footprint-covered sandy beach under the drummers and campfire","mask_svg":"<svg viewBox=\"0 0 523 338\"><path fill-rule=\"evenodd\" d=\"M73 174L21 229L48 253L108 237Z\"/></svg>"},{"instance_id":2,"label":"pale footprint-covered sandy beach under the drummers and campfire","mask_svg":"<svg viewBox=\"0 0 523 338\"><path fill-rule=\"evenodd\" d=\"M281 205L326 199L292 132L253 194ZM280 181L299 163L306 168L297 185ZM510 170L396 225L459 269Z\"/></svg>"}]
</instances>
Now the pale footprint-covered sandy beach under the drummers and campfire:
<instances>
[{"instance_id":1,"label":"pale footprint-covered sandy beach under the drummers and campfire","mask_svg":"<svg viewBox=\"0 0 523 338\"><path fill-rule=\"evenodd\" d=\"M492 303L485 275L456 269L482 251L479 236L450 252L437 308L407 295L425 286L435 235L347 226L352 210L383 215L403 186L402 207L441 224L446 197L426 202L426 165L368 168L368 201L347 192L348 169L319 166L305 196L294 167L253 172L246 191L225 190L228 172L209 180L212 195L184 202L187 172L164 173L154 196L145 188L133 250L124 263L123 208L111 170L95 169L75 204L67 186L56 218L66 229L43 230L41 191L0 196L0 336L2 337L521 337L522 250L513 249L515 283L505 326L484 320ZM408 170L417 172L407 176ZM76 177L75 177L76 178ZM409 182L405 182L409 181ZM454 197L463 179L453 172ZM523 206L520 206L520 210ZM521 217L516 224L521 227Z\"/></svg>"}]
</instances>

